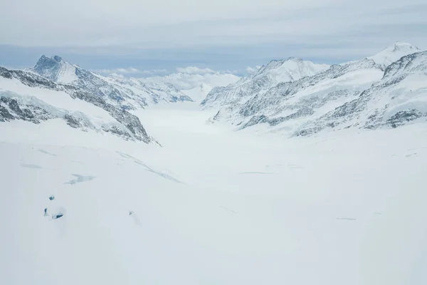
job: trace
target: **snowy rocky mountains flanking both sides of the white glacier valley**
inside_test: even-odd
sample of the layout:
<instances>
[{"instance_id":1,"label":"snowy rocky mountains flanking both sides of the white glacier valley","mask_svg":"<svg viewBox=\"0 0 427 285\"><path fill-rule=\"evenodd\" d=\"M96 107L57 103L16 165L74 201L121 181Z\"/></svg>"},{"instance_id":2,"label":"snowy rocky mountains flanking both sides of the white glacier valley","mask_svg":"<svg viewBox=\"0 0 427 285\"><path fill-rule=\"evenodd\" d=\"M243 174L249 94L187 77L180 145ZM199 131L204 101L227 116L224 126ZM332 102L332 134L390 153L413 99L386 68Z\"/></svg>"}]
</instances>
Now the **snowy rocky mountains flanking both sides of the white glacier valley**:
<instances>
[{"instance_id":1,"label":"snowy rocky mountains flanking both sides of the white glacier valley","mask_svg":"<svg viewBox=\"0 0 427 285\"><path fill-rule=\"evenodd\" d=\"M206 94L201 108L216 111L212 123L226 121L237 130L263 124L289 136L397 128L427 117L427 51L403 42L332 66L300 58L274 60L228 86L200 83L185 90L187 95L163 80L101 76L59 56L41 56L23 71L0 68L0 122L63 120L83 131L157 143L132 111L194 101L189 95L199 102Z\"/></svg>"}]
</instances>

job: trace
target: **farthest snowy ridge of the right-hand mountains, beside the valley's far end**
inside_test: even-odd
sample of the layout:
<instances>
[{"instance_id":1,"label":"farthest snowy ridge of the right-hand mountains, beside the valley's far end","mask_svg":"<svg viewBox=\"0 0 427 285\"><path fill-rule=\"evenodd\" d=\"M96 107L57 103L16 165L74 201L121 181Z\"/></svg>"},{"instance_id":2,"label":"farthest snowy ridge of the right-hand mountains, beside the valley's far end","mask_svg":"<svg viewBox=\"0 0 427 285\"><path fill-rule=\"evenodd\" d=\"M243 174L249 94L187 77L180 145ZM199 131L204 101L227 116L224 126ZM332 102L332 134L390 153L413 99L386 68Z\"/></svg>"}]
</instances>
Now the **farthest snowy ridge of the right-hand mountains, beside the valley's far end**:
<instances>
[{"instance_id":1,"label":"farthest snowy ridge of the right-hand mountains, beside the valley's far end","mask_svg":"<svg viewBox=\"0 0 427 285\"><path fill-rule=\"evenodd\" d=\"M288 58L280 61L270 61L261 68L236 83L226 87L211 90L206 99L201 102L204 108L214 106L236 105L245 103L256 94L263 94L280 82L297 81L306 76L325 71L329 66L303 61L300 58Z\"/></svg>"}]
</instances>

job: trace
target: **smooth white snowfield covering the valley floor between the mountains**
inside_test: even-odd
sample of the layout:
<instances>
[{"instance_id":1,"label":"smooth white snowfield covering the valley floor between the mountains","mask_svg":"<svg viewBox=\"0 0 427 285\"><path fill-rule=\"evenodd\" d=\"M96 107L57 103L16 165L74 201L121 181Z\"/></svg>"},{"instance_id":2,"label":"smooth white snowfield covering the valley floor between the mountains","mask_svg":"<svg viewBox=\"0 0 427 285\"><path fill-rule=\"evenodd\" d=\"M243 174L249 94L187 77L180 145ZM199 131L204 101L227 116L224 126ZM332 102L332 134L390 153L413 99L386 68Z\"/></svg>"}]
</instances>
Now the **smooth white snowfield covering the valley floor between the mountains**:
<instances>
[{"instance_id":1,"label":"smooth white snowfield covering the valley floor between the mountains","mask_svg":"<svg viewBox=\"0 0 427 285\"><path fill-rule=\"evenodd\" d=\"M0 123L0 284L427 283L426 124L286 139L138 112L163 147Z\"/></svg>"}]
</instances>

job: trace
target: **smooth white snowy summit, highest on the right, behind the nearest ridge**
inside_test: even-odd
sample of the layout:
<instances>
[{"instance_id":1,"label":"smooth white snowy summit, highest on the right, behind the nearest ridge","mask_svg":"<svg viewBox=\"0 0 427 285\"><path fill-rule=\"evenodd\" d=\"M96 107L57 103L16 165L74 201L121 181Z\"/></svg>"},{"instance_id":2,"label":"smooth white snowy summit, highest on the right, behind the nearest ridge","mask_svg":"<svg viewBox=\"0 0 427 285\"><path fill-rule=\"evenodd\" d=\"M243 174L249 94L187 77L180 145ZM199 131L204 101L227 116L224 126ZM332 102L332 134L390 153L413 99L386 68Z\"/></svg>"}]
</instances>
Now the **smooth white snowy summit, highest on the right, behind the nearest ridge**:
<instances>
[{"instance_id":1,"label":"smooth white snowy summit, highest on the right, behind the nearest ridge","mask_svg":"<svg viewBox=\"0 0 427 285\"><path fill-rule=\"evenodd\" d=\"M376 53L374 56L369 56L369 59L375 61L376 64L379 64L382 68L386 69L394 61L397 61L402 56L407 56L411 53L417 53L421 49L416 46L412 46L411 43L405 43L402 41L397 41L391 46L384 48L384 50Z\"/></svg>"}]
</instances>

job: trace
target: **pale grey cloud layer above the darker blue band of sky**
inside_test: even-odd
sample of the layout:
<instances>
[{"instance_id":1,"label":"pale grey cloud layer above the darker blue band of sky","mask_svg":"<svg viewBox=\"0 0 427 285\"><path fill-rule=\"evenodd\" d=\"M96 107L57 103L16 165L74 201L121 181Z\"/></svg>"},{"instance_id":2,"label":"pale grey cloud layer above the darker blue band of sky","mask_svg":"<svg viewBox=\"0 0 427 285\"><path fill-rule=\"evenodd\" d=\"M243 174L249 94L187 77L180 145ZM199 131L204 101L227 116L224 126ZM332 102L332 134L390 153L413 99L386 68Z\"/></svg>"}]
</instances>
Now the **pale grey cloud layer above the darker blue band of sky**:
<instances>
[{"instance_id":1,"label":"pale grey cloud layer above the darker blue band of sky","mask_svg":"<svg viewBox=\"0 0 427 285\"><path fill-rule=\"evenodd\" d=\"M8 27L0 42L176 48L321 40L357 46L361 37L390 43L406 36L424 43L419 29L426 28L426 13L421 0L15 0L0 11L0 24Z\"/></svg>"}]
</instances>

